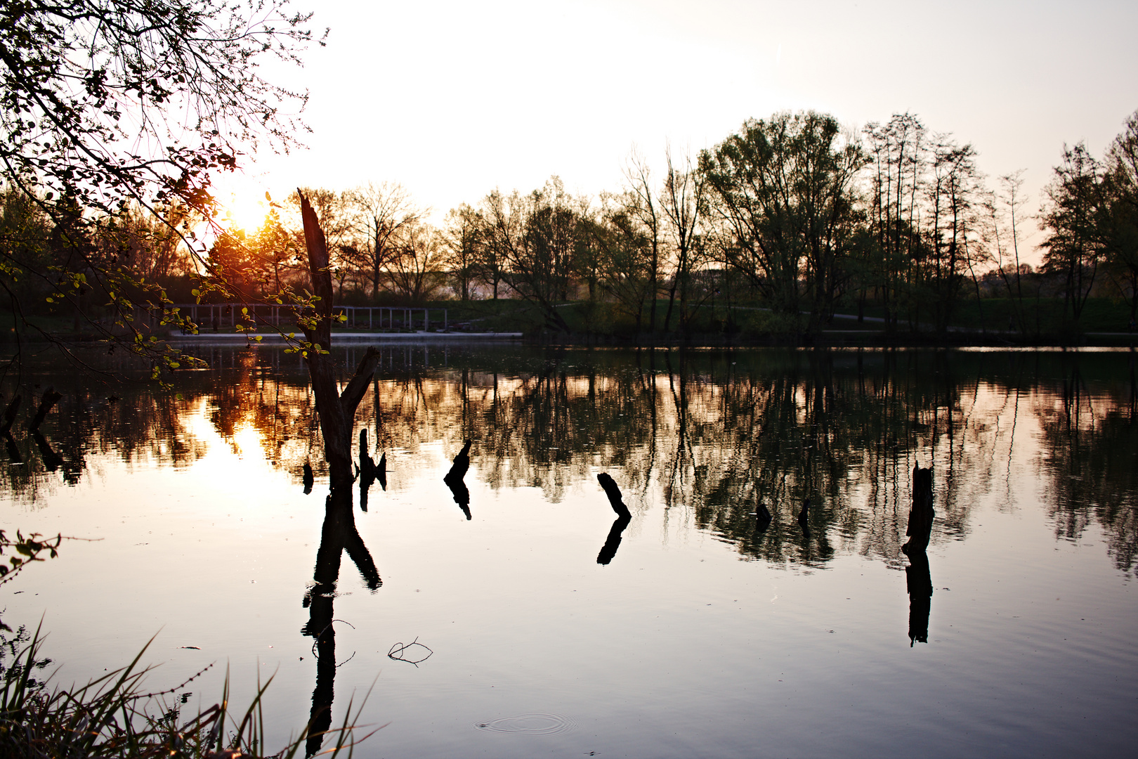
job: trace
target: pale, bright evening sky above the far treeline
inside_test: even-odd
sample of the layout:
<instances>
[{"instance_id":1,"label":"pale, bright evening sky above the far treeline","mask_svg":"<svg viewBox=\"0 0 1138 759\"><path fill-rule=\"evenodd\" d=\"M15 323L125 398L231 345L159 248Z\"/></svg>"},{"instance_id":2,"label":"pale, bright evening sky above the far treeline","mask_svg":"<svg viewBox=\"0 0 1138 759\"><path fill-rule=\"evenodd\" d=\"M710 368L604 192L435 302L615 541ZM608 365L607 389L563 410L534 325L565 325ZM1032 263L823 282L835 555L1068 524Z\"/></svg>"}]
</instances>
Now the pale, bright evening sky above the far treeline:
<instances>
[{"instance_id":1,"label":"pale, bright evening sky above the far treeline","mask_svg":"<svg viewBox=\"0 0 1138 759\"><path fill-rule=\"evenodd\" d=\"M236 217L297 185L399 182L437 221L552 174L595 197L634 148L659 167L799 109L916 114L1038 208L1064 143L1102 155L1138 109L1132 0L325 0L312 23L327 47L264 68L308 90L307 147L222 178Z\"/></svg>"}]
</instances>

